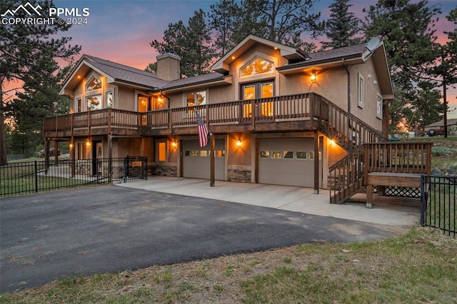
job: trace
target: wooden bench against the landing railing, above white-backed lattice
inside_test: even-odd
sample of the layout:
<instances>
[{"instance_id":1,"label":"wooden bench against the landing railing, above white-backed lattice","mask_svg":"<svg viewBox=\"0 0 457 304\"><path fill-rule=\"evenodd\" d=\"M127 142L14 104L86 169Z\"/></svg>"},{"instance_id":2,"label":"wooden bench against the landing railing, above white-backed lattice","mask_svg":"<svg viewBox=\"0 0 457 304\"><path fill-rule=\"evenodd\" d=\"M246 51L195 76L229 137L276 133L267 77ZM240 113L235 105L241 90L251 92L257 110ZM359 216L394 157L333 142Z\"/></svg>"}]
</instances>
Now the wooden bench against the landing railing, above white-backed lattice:
<instances>
[{"instance_id":1,"label":"wooden bench against the landing railing, above white-backed lattice","mask_svg":"<svg viewBox=\"0 0 457 304\"><path fill-rule=\"evenodd\" d=\"M373 203L373 185L421 188L421 174L393 172L368 173L368 181L366 185L366 208L371 208L371 204Z\"/></svg>"}]
</instances>

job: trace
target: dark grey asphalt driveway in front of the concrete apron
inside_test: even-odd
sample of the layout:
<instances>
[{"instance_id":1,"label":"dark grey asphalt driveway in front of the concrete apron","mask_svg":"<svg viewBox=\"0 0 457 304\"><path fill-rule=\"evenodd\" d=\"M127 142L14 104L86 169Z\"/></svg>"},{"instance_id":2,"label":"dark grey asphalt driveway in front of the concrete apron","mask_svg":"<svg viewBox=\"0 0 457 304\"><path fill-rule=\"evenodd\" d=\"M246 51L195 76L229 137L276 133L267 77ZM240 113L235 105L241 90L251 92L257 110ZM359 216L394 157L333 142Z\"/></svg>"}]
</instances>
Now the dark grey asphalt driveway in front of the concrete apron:
<instances>
[{"instance_id":1,"label":"dark grey asphalt driveway in front of the concrete apron","mask_svg":"<svg viewBox=\"0 0 457 304\"><path fill-rule=\"evenodd\" d=\"M298 243L373 240L391 228L116 186L2 198L0 293Z\"/></svg>"}]
</instances>

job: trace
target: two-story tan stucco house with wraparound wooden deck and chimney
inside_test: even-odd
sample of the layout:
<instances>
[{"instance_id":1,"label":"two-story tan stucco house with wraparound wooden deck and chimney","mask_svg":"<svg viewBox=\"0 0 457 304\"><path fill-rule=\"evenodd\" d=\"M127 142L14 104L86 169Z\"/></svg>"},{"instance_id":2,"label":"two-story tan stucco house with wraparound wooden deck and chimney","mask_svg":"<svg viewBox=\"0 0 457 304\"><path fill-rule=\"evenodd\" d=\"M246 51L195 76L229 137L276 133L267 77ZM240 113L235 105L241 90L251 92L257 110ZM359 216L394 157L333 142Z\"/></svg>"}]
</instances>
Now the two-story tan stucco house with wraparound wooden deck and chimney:
<instances>
[{"instance_id":1,"label":"two-story tan stucco house with wraparound wooden deck and chimney","mask_svg":"<svg viewBox=\"0 0 457 304\"><path fill-rule=\"evenodd\" d=\"M161 54L151 74L82 56L60 92L70 113L45 119L45 143L69 141L76 161L147 156L156 175L330 188L342 201L368 166L341 161L387 141L382 41L305 54L251 35L209 74L181 78L179 61ZM204 147L196 112L211 133Z\"/></svg>"}]
</instances>

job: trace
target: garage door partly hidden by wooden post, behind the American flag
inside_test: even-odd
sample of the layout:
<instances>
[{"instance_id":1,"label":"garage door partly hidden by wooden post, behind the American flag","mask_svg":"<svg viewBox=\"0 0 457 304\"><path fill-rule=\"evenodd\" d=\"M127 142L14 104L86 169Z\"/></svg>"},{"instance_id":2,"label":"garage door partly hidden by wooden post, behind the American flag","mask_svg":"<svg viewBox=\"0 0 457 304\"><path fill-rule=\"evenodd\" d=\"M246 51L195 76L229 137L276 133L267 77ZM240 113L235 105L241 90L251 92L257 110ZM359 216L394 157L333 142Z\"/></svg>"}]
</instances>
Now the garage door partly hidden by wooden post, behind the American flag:
<instances>
[{"instance_id":1,"label":"garage door partly hidden by wooden post, behind the American flag","mask_svg":"<svg viewBox=\"0 0 457 304\"><path fill-rule=\"evenodd\" d=\"M200 147L199 141L183 141L183 176L189 178L211 178L211 148ZM216 140L214 178L224 180L225 145L224 140Z\"/></svg>"}]
</instances>

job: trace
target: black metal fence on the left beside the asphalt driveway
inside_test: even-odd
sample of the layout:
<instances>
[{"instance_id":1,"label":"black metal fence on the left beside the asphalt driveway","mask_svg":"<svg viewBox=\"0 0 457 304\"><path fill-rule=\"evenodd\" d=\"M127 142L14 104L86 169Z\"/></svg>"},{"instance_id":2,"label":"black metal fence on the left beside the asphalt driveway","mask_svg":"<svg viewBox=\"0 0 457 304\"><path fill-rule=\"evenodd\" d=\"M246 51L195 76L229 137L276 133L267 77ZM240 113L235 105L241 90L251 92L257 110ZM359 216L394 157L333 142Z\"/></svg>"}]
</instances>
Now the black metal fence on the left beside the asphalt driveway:
<instances>
[{"instance_id":1,"label":"black metal fence on the left beside the asphalt driveway","mask_svg":"<svg viewBox=\"0 0 457 304\"><path fill-rule=\"evenodd\" d=\"M148 161L143 156L4 163L0 165L0 197L147 180L147 168Z\"/></svg>"}]
</instances>

